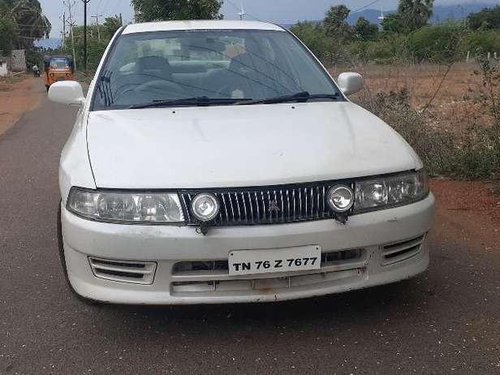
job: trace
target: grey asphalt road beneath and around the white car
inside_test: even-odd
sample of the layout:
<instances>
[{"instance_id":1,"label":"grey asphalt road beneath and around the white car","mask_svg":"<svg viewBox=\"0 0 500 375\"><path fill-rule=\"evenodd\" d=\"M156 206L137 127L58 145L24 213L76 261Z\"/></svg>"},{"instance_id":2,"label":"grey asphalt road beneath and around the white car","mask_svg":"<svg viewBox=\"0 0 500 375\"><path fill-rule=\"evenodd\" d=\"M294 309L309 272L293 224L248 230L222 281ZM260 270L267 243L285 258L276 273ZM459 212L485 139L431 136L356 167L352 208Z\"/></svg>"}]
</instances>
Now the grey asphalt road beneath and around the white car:
<instances>
[{"instance_id":1,"label":"grey asphalt road beneath and around the white car","mask_svg":"<svg viewBox=\"0 0 500 375\"><path fill-rule=\"evenodd\" d=\"M499 374L500 261L438 222L429 272L293 303L88 306L56 242L74 111L44 102L0 137L0 374ZM441 229L439 229L441 228Z\"/></svg>"}]
</instances>

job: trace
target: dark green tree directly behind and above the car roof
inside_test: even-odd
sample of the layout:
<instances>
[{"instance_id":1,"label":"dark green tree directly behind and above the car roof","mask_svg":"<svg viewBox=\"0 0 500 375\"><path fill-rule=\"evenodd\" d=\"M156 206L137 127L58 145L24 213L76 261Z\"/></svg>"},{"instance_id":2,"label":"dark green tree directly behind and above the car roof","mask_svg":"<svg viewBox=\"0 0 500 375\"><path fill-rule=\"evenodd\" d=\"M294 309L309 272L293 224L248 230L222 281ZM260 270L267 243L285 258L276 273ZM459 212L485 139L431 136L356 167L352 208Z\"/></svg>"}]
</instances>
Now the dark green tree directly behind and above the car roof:
<instances>
[{"instance_id":1,"label":"dark green tree directly behind and above the car roof","mask_svg":"<svg viewBox=\"0 0 500 375\"><path fill-rule=\"evenodd\" d=\"M221 0L132 0L136 21L220 19Z\"/></svg>"}]
</instances>

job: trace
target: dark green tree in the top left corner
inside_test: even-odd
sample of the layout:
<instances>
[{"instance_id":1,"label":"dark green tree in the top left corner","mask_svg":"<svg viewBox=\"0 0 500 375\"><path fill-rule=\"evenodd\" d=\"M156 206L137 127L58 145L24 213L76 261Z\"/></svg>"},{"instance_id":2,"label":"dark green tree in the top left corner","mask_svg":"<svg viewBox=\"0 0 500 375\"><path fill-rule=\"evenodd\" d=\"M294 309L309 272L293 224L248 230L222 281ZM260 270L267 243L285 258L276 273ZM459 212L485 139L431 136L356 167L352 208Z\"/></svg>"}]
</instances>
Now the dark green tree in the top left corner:
<instances>
[{"instance_id":1,"label":"dark green tree in the top left corner","mask_svg":"<svg viewBox=\"0 0 500 375\"><path fill-rule=\"evenodd\" d=\"M35 40L50 33L50 22L38 0L0 0L0 18L17 25L15 48L30 49Z\"/></svg>"}]
</instances>

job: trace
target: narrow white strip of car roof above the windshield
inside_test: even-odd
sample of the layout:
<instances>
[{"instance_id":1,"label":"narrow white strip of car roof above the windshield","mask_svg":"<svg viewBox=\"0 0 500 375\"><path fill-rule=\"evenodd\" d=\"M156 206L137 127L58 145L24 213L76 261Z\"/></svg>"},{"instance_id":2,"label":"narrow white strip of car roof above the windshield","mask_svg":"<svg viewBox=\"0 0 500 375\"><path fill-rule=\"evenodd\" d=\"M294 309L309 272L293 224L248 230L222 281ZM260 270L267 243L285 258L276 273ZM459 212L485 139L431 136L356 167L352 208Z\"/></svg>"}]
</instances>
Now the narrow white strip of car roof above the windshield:
<instances>
[{"instance_id":1,"label":"narrow white strip of car roof above the windshield","mask_svg":"<svg viewBox=\"0 0 500 375\"><path fill-rule=\"evenodd\" d=\"M284 31L278 25L257 21L164 21L135 23L125 27L123 34L182 30L271 30Z\"/></svg>"}]
</instances>

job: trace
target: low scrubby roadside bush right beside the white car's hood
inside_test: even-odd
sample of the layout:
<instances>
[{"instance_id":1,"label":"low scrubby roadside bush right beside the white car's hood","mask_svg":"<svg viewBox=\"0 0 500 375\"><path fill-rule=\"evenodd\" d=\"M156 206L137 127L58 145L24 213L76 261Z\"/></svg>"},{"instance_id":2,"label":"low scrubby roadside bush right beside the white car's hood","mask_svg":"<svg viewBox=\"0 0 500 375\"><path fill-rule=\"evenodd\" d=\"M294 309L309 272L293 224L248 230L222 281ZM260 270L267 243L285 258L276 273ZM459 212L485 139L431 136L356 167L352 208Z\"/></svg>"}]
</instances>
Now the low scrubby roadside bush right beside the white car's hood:
<instances>
[{"instance_id":1,"label":"low scrubby roadside bush right beside the white car's hood","mask_svg":"<svg viewBox=\"0 0 500 375\"><path fill-rule=\"evenodd\" d=\"M453 134L428 126L430 116L412 108L408 92L378 93L360 103L386 121L413 147L432 176L500 178L500 133L471 124Z\"/></svg>"}]
</instances>

